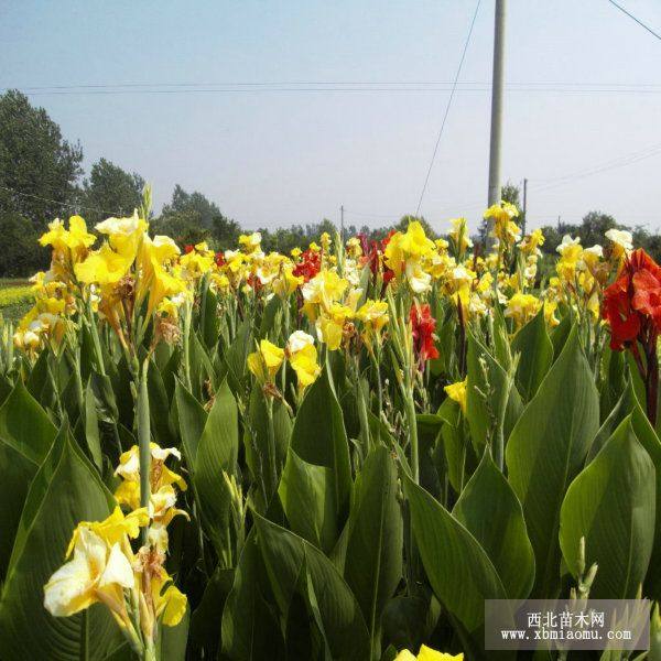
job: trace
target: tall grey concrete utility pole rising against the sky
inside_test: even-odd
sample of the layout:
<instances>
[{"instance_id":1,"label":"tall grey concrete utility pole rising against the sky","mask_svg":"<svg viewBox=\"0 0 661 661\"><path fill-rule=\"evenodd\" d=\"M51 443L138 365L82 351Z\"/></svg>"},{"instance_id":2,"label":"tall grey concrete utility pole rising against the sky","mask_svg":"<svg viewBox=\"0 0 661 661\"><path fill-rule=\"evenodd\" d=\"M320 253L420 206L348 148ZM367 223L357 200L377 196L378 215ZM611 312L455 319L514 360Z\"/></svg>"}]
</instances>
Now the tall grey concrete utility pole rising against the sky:
<instances>
[{"instance_id":1,"label":"tall grey concrete utility pole rising against the sky","mask_svg":"<svg viewBox=\"0 0 661 661\"><path fill-rule=\"evenodd\" d=\"M500 202L500 142L502 133L502 86L505 79L506 0L496 0L494 28L494 77L491 82L491 142L489 149L489 206Z\"/></svg>"}]
</instances>

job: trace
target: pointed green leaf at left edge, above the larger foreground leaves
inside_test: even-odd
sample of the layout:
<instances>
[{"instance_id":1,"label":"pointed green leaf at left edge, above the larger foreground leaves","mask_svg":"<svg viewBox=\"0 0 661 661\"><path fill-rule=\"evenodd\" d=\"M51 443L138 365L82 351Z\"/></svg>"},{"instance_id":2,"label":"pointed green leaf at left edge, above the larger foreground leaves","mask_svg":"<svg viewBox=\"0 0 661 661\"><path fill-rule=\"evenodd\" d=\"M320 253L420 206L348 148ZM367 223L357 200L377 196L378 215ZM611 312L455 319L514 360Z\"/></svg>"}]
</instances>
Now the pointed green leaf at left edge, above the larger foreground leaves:
<instances>
[{"instance_id":1,"label":"pointed green leaf at left edge, above the larger foreground leaves","mask_svg":"<svg viewBox=\"0 0 661 661\"><path fill-rule=\"evenodd\" d=\"M0 407L0 438L35 464L41 464L57 434L46 412L20 379Z\"/></svg>"}]
</instances>

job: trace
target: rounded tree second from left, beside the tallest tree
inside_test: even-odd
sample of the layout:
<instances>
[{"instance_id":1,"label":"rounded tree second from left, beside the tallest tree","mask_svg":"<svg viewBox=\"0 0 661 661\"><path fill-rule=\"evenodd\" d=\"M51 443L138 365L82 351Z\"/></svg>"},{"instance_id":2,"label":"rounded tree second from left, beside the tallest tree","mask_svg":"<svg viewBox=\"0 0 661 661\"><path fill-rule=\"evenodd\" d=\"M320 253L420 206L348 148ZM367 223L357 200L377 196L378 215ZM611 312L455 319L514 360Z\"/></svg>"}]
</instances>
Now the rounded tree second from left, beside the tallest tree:
<instances>
[{"instance_id":1,"label":"rounded tree second from left, beside the tallest tree","mask_svg":"<svg viewBox=\"0 0 661 661\"><path fill-rule=\"evenodd\" d=\"M142 202L144 180L106 159L93 166L82 192L82 215L90 223L108 216L130 216ZM99 209L99 210L91 210Z\"/></svg>"}]
</instances>

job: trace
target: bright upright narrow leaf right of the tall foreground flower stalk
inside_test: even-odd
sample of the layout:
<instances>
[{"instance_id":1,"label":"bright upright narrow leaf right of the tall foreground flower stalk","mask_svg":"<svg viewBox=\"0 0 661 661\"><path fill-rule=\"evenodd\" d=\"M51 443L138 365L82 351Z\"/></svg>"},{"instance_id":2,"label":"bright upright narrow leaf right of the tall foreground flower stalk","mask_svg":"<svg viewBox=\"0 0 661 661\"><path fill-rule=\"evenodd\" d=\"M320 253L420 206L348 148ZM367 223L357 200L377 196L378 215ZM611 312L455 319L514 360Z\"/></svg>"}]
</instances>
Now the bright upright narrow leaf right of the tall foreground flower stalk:
<instances>
[{"instance_id":1,"label":"bright upright narrow leaf right of the tall foreground flower stalk","mask_svg":"<svg viewBox=\"0 0 661 661\"><path fill-rule=\"evenodd\" d=\"M223 381L197 446L193 481L202 519L219 553L228 549L230 494L223 473L236 473L239 452L237 402Z\"/></svg>"}]
</instances>

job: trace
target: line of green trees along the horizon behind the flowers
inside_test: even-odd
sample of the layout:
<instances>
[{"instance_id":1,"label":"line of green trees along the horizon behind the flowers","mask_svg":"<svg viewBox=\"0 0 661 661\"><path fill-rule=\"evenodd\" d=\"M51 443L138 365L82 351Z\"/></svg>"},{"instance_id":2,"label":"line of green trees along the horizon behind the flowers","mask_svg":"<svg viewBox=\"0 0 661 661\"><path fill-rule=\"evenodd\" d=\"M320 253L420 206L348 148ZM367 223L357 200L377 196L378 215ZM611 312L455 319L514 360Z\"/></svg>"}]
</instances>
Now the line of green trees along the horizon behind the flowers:
<instances>
[{"instance_id":1,"label":"line of green trees along the horizon behind the flowers","mask_svg":"<svg viewBox=\"0 0 661 661\"><path fill-rule=\"evenodd\" d=\"M144 178L127 172L107 159L83 171L83 148L64 139L62 131L43 108L32 106L18 90L0 95L0 278L22 278L48 266L48 250L37 239L54 218L82 215L90 227L110 216L130 215L142 198ZM519 189L508 184L503 198L519 205ZM520 205L519 205L520 206ZM411 216L404 216L397 228L405 228ZM429 235L436 236L424 218ZM166 234L180 246L199 241L217 250L235 247L246 230L240 223L225 216L218 206L198 192L188 193L176 185L170 203L150 218L154 234ZM661 236L643 228L627 228L608 215L590 212L578 225L559 223L544 227L542 247L553 253L565 234L578 236L584 246L600 243L610 228L631 229L636 246L644 247L661 259ZM345 236L365 234L369 240L381 239L392 227L348 226ZM442 228L442 231L445 227ZM308 225L277 229L262 228L266 251L289 252L318 240L322 232L334 234L335 225L324 219ZM481 241L484 226L474 240Z\"/></svg>"}]
</instances>

